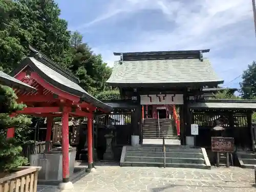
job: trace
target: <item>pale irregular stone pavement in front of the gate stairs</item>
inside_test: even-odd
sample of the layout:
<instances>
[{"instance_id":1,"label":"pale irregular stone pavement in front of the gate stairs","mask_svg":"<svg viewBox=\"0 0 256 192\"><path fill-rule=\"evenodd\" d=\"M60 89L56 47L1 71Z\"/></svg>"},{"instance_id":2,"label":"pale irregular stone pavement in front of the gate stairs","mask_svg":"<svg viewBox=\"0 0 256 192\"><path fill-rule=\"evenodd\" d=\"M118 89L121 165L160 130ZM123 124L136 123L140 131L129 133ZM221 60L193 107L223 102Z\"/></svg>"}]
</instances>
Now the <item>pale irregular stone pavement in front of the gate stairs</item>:
<instances>
[{"instance_id":1,"label":"pale irregular stone pavement in front of the gate stairs","mask_svg":"<svg viewBox=\"0 0 256 192\"><path fill-rule=\"evenodd\" d=\"M82 164L81 164L82 166ZM254 170L240 167L207 169L96 166L66 192L211 192L256 191ZM59 192L57 187L38 186L37 192Z\"/></svg>"}]
</instances>

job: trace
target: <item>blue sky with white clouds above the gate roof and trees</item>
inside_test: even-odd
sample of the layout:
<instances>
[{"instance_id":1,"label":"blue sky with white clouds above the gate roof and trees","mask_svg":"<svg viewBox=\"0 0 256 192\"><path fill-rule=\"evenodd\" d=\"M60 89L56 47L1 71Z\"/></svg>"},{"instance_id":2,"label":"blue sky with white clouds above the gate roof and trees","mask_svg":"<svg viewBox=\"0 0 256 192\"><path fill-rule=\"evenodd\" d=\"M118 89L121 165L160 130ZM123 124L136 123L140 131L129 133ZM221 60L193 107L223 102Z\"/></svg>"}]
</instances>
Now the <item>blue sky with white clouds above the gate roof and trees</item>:
<instances>
[{"instance_id":1,"label":"blue sky with white clouds above the gate roof and trees","mask_svg":"<svg viewBox=\"0 0 256 192\"><path fill-rule=\"evenodd\" d=\"M224 87L239 88L256 60L251 0L57 0L69 30L78 30L113 67L113 52L210 49Z\"/></svg>"}]
</instances>

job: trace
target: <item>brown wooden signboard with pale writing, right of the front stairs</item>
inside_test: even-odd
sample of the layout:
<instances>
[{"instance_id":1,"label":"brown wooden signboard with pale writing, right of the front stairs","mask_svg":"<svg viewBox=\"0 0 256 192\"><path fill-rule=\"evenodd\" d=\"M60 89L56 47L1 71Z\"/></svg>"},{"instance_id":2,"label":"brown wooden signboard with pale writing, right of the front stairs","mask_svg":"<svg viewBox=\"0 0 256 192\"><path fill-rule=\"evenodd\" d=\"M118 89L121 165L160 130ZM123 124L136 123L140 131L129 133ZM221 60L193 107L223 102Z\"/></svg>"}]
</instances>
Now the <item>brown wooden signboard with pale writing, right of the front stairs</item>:
<instances>
[{"instance_id":1,"label":"brown wooden signboard with pale writing, right of the front stairs","mask_svg":"<svg viewBox=\"0 0 256 192\"><path fill-rule=\"evenodd\" d=\"M212 152L234 152L234 138L232 137L211 137Z\"/></svg>"}]
</instances>

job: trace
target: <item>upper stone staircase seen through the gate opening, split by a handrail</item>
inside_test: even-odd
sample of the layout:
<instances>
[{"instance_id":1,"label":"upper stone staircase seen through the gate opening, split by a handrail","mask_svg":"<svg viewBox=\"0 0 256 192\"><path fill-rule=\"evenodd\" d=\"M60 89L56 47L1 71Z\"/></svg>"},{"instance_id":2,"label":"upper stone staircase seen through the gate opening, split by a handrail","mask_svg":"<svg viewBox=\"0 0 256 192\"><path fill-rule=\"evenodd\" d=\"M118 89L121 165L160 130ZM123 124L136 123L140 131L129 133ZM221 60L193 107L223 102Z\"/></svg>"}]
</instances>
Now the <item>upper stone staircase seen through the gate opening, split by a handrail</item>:
<instances>
[{"instance_id":1,"label":"upper stone staircase seen through the gate opening, split by a handrail","mask_svg":"<svg viewBox=\"0 0 256 192\"><path fill-rule=\"evenodd\" d=\"M166 139L178 139L177 131L174 126L173 119L159 119L160 124L160 135L158 129L158 119L146 118L143 123L143 138L155 139L155 138L166 138Z\"/></svg>"}]
</instances>

